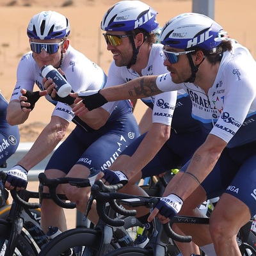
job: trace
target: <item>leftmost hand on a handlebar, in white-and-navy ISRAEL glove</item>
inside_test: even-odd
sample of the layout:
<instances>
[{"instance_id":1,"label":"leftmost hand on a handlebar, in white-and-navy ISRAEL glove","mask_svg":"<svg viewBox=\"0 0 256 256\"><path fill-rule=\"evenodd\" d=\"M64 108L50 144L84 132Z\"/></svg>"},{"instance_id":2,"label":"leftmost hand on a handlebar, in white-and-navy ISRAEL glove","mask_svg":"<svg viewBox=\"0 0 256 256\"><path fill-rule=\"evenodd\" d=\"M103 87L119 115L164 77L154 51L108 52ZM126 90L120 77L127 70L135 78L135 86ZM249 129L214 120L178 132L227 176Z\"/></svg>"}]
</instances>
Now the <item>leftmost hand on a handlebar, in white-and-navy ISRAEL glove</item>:
<instances>
[{"instance_id":1,"label":"leftmost hand on a handlebar, in white-and-navy ISRAEL glove","mask_svg":"<svg viewBox=\"0 0 256 256\"><path fill-rule=\"evenodd\" d=\"M21 165L13 166L13 168L6 172L6 174L6 189L13 189L17 187L17 190L19 190L20 188L26 188L28 184L28 171Z\"/></svg>"}]
</instances>

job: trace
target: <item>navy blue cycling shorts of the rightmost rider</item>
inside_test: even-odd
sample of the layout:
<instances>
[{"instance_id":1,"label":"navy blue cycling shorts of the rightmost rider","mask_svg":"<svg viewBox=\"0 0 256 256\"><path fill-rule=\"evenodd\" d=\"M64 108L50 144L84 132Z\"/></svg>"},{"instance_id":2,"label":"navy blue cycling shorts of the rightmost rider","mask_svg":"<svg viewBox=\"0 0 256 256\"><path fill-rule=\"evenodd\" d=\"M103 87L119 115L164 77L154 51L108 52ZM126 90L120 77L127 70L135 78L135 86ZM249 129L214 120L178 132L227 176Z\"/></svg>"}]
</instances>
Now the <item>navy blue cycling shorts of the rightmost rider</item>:
<instances>
[{"instance_id":1,"label":"navy blue cycling shorts of the rightmost rider","mask_svg":"<svg viewBox=\"0 0 256 256\"><path fill-rule=\"evenodd\" d=\"M187 163L182 171L188 167ZM225 148L212 172L202 182L207 198L228 193L256 214L256 142Z\"/></svg>"}]
</instances>

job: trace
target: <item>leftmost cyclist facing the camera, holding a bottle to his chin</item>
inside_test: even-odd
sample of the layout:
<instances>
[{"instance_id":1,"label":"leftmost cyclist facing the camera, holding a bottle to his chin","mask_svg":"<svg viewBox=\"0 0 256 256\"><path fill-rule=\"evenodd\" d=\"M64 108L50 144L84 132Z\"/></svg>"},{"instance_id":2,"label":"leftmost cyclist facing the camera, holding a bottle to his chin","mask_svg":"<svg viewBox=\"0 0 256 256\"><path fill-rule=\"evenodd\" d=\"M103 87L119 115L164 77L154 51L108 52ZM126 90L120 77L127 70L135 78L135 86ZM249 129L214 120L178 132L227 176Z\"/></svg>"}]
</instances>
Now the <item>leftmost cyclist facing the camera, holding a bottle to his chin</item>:
<instances>
[{"instance_id":1,"label":"leftmost cyclist facing the camera, holding a bottle to his chin","mask_svg":"<svg viewBox=\"0 0 256 256\"><path fill-rule=\"evenodd\" d=\"M8 173L6 188L26 187L28 171L52 152L64 138L71 121L76 127L49 160L45 168L47 177L67 175L86 178L91 165L100 169L108 168L118 154L139 135L129 100L118 102L111 109L112 112L99 108L90 115L74 116L74 98L60 98L54 93L55 90L52 93L54 96L47 94L45 88L52 91L55 84L51 84L52 79L43 79L42 67L53 65L61 68L74 91L99 90L106 84L106 75L100 67L69 44L70 25L68 19L60 13L49 11L36 14L29 22L27 34L31 51L22 57L17 69L17 84L8 107L8 121L12 124L25 122L36 100L42 95L55 107L51 121L31 150ZM40 92L32 93L35 83ZM65 193L68 199L76 202L78 210L84 211L84 198L89 196L90 188L70 188L68 191L59 188L59 192ZM41 225L45 231L50 225L57 226L61 231L67 229L63 209L52 200L44 200L42 204Z\"/></svg>"}]
</instances>

